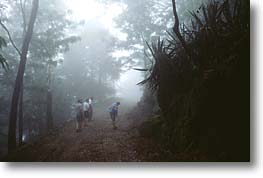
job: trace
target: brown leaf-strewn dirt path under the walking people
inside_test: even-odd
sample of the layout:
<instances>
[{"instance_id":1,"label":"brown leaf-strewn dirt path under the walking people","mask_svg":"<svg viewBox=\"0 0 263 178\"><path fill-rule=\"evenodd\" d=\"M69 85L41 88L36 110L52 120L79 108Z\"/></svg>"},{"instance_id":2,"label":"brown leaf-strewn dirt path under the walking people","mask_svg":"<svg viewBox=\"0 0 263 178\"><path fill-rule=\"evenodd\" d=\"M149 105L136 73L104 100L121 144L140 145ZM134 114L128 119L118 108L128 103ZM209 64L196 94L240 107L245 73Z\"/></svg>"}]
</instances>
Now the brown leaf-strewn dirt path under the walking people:
<instances>
[{"instance_id":1,"label":"brown leaf-strewn dirt path under the walking people","mask_svg":"<svg viewBox=\"0 0 263 178\"><path fill-rule=\"evenodd\" d=\"M96 119L77 133L75 122L69 121L48 136L18 149L8 156L8 161L130 162L154 161L158 157L153 144L138 134L131 121L119 119L117 127L114 130L108 118Z\"/></svg>"}]
</instances>

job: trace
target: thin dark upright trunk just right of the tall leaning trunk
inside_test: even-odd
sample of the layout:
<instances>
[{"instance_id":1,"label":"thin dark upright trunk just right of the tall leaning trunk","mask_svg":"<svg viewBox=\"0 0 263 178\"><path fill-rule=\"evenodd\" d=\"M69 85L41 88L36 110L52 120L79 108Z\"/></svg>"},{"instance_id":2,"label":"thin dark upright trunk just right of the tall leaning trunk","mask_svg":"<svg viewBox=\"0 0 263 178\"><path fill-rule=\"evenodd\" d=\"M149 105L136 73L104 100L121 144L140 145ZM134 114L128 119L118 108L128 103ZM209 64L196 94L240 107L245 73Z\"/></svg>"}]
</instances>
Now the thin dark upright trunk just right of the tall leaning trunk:
<instances>
[{"instance_id":1,"label":"thin dark upright trunk just right of the tall leaning trunk","mask_svg":"<svg viewBox=\"0 0 263 178\"><path fill-rule=\"evenodd\" d=\"M19 99L19 120L18 120L18 144L21 146L23 144L23 84L20 91Z\"/></svg>"}]
</instances>

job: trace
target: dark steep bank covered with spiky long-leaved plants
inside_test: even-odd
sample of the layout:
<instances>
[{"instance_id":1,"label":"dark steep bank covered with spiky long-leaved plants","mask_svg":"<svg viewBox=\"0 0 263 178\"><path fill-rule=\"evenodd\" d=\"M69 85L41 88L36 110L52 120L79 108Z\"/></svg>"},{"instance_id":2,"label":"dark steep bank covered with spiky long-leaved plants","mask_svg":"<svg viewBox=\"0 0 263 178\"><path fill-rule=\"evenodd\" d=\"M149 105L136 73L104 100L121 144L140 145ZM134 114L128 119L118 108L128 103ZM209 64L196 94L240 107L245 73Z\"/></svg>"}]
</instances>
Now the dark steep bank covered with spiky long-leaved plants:
<instances>
[{"instance_id":1,"label":"dark steep bank covered with spiky long-leaved plants","mask_svg":"<svg viewBox=\"0 0 263 178\"><path fill-rule=\"evenodd\" d=\"M173 5L175 26L148 45L154 65L141 82L157 93L166 140L208 160L248 160L249 1L202 5L191 28L179 24Z\"/></svg>"}]
</instances>

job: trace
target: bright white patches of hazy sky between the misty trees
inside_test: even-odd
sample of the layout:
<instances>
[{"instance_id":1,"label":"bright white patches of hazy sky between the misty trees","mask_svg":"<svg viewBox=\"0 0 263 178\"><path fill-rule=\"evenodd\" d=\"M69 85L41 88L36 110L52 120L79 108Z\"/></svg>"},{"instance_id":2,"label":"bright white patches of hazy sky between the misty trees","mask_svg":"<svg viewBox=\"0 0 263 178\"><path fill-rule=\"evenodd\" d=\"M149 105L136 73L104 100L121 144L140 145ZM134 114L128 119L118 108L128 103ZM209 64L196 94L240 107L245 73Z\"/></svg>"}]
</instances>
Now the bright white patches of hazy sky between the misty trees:
<instances>
[{"instance_id":1,"label":"bright white patches of hazy sky between the misty trees","mask_svg":"<svg viewBox=\"0 0 263 178\"><path fill-rule=\"evenodd\" d=\"M125 10L125 5L120 3L101 4L96 0L66 0L68 8L72 10L73 19L78 21L96 21L102 24L109 32L119 40L126 40L127 34L122 33L114 23L114 18ZM115 57L129 55L127 51L116 51ZM117 96L132 102L139 101L142 90L136 84L142 80L140 72L130 70L121 75L116 83Z\"/></svg>"}]
</instances>

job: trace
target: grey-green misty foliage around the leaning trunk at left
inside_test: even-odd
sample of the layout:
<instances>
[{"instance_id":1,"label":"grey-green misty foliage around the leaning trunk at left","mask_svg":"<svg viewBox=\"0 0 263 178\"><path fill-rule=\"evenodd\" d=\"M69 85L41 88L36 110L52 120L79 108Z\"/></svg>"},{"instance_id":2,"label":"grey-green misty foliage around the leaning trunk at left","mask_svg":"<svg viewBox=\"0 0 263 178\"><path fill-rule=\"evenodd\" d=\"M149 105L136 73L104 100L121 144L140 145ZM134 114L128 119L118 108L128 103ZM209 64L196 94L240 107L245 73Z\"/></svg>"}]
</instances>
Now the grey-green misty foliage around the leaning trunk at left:
<instances>
[{"instance_id":1,"label":"grey-green misty foliage around the leaning trunk at left","mask_svg":"<svg viewBox=\"0 0 263 178\"><path fill-rule=\"evenodd\" d=\"M0 8L1 20L10 31L14 43L20 48L24 35L24 25L27 24L30 15L31 1L12 1L6 0L8 4L8 13ZM21 10L23 5L24 15ZM70 112L72 101L68 101L67 92L63 90L61 77L55 71L61 66L64 58L63 53L69 50L70 45L79 41L79 37L70 35L69 31L74 28L75 23L67 18L68 11L62 0L41 0L39 13L37 16L33 37L31 40L28 62L24 75L24 123L25 129L34 130L35 133L41 133L44 130L46 118L46 92L48 88L56 94L56 106L64 107ZM8 16L7 16L8 14ZM3 36L7 38L6 36ZM4 56L8 58L10 70L0 73L1 92L0 97L5 107L1 108L1 113L7 115L10 106L11 91L15 81L15 74L19 64L19 56L12 46L5 48ZM2 53L1 53L2 54ZM54 84L53 84L54 83ZM54 85L57 87L54 87ZM55 92L55 90L59 91ZM60 94L64 94L62 97ZM60 97L57 97L59 95ZM3 98L3 99L2 99ZM60 110L59 110L60 109ZM57 113L67 113L59 108L54 111ZM69 116L64 118L57 117L59 122L63 122Z\"/></svg>"}]
</instances>

